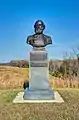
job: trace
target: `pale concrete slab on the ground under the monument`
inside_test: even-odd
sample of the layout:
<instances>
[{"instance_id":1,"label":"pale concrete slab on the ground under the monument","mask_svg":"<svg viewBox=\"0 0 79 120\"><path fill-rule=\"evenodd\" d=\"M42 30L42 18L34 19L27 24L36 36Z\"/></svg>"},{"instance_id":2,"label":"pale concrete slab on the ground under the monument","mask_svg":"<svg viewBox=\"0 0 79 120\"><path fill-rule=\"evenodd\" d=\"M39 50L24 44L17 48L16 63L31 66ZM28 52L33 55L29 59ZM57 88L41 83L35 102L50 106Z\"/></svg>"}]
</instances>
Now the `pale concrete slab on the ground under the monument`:
<instances>
[{"instance_id":1,"label":"pale concrete slab on the ground under the monument","mask_svg":"<svg viewBox=\"0 0 79 120\"><path fill-rule=\"evenodd\" d=\"M23 95L24 95L24 92L19 92L17 96L14 98L13 103L53 103L53 102L62 103L64 102L63 98L57 91L54 91L54 95L55 95L54 100L24 100Z\"/></svg>"}]
</instances>

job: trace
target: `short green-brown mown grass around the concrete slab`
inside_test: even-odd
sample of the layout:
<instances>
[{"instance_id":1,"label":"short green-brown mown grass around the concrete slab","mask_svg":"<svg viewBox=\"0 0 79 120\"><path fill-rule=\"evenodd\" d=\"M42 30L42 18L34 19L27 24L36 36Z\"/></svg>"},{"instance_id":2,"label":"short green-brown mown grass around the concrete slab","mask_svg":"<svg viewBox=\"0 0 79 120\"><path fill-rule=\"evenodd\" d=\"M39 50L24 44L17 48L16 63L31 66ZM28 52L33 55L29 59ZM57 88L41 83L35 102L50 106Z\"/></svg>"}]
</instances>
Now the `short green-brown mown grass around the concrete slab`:
<instances>
[{"instance_id":1,"label":"short green-brown mown grass around the concrete slab","mask_svg":"<svg viewBox=\"0 0 79 120\"><path fill-rule=\"evenodd\" d=\"M64 103L13 104L19 91L0 90L0 120L79 120L79 89L57 89Z\"/></svg>"}]
</instances>

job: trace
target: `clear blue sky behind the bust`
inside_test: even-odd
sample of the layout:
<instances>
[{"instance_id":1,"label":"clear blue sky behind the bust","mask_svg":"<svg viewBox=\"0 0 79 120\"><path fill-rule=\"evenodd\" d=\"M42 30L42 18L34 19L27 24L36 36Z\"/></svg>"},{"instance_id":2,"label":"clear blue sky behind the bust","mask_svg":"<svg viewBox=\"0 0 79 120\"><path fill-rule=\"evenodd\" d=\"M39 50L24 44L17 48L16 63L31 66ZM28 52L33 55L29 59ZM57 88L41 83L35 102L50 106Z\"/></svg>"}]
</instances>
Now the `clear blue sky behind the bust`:
<instances>
[{"instance_id":1,"label":"clear blue sky behind the bust","mask_svg":"<svg viewBox=\"0 0 79 120\"><path fill-rule=\"evenodd\" d=\"M79 0L0 0L0 62L29 59L26 40L38 19L52 38L49 59L62 59L79 44Z\"/></svg>"}]
</instances>

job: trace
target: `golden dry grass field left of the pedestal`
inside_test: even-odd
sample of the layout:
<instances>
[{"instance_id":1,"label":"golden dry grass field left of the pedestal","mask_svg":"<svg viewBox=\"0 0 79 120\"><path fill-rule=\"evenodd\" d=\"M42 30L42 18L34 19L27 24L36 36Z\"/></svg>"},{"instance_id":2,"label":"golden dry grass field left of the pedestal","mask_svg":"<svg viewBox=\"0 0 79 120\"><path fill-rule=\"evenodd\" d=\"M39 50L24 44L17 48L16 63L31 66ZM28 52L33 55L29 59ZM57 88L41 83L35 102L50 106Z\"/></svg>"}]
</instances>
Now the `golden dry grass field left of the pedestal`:
<instances>
[{"instance_id":1,"label":"golden dry grass field left of the pedestal","mask_svg":"<svg viewBox=\"0 0 79 120\"><path fill-rule=\"evenodd\" d=\"M28 68L0 66L0 88L23 87L24 81L28 78Z\"/></svg>"}]
</instances>

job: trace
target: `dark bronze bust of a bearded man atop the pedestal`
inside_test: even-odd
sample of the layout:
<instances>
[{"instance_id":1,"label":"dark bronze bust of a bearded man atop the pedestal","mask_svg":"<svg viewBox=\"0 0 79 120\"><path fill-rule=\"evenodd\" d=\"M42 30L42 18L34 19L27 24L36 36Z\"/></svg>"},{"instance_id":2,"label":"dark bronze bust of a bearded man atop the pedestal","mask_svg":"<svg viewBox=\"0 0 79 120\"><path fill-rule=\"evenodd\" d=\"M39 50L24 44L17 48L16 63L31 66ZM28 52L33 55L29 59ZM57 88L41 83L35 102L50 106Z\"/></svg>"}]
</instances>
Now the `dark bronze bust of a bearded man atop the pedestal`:
<instances>
[{"instance_id":1,"label":"dark bronze bust of a bearded man atop the pedestal","mask_svg":"<svg viewBox=\"0 0 79 120\"><path fill-rule=\"evenodd\" d=\"M52 44L50 36L43 34L45 24L42 20L37 20L34 25L35 34L27 37L27 44L33 46L33 49L45 49L45 46Z\"/></svg>"}]
</instances>

